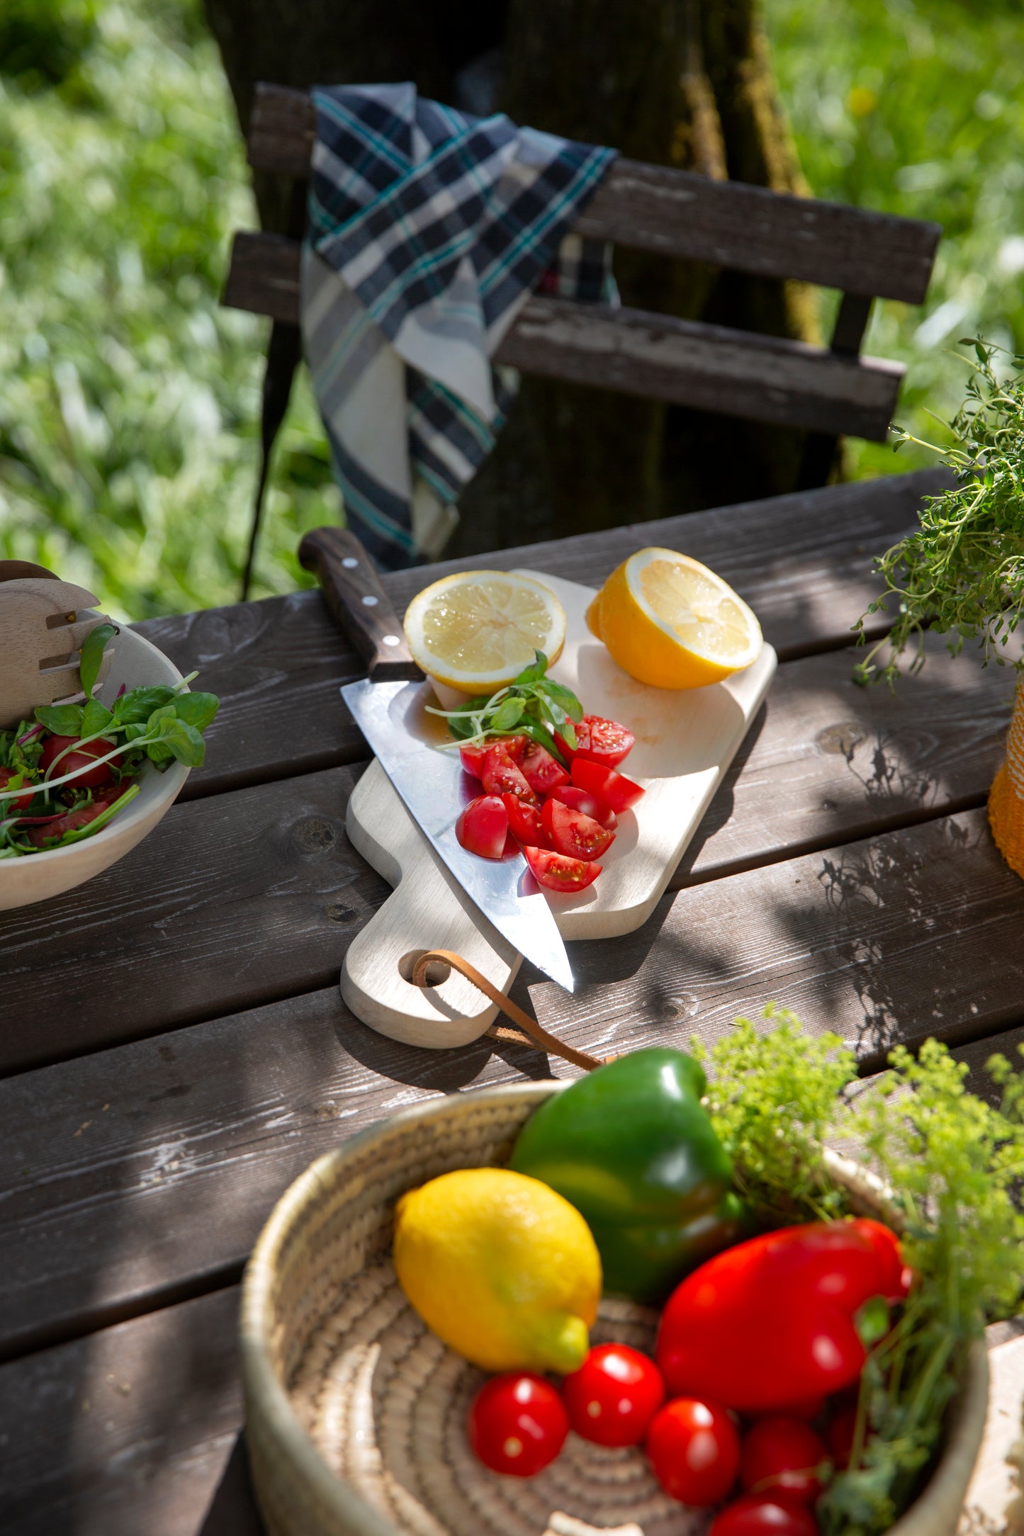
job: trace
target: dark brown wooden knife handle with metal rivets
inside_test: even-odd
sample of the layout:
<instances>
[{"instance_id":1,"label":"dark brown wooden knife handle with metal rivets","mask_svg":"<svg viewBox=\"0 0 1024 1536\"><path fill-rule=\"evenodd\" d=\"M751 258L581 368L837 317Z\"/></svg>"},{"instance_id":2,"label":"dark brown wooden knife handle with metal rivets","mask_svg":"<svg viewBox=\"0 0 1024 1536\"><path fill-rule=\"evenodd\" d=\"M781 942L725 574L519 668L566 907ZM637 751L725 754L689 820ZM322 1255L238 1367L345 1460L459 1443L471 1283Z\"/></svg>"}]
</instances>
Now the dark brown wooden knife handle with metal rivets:
<instances>
[{"instance_id":1,"label":"dark brown wooden knife handle with metal rivets","mask_svg":"<svg viewBox=\"0 0 1024 1536\"><path fill-rule=\"evenodd\" d=\"M422 677L373 561L348 528L313 528L299 564L316 571L330 614L367 664L373 682Z\"/></svg>"}]
</instances>

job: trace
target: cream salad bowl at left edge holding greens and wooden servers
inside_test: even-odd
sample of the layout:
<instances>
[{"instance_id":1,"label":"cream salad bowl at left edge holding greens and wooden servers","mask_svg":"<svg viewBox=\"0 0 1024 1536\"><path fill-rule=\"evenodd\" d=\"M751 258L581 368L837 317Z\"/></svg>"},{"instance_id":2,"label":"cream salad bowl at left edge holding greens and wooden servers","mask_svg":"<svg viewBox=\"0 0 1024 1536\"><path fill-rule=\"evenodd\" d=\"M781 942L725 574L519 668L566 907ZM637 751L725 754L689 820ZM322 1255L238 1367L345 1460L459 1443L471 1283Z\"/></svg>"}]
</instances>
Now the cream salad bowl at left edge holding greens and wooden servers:
<instances>
[{"instance_id":1,"label":"cream salad bowl at left edge holding greens and wooden servers","mask_svg":"<svg viewBox=\"0 0 1024 1536\"><path fill-rule=\"evenodd\" d=\"M181 682L181 673L173 662L135 630L121 625L121 633L112 642L111 671L98 697L112 699L121 684L138 688L141 684L175 682ZM187 777L184 763L172 762L163 773L147 763L135 799L92 837L83 837L69 848L51 848L48 852L25 854L23 859L0 859L0 911L45 902L91 880L101 869L109 869L129 848L141 843L146 833L170 809Z\"/></svg>"}]
</instances>

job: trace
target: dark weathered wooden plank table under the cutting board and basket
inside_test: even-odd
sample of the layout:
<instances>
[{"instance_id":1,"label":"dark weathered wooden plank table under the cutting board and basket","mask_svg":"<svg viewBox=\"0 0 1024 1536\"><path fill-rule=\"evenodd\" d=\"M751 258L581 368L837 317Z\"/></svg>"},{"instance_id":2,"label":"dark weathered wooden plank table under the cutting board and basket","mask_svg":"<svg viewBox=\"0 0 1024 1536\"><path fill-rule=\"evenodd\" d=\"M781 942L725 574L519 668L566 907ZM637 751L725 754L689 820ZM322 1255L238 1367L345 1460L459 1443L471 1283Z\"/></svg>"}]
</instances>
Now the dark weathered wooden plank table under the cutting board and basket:
<instances>
[{"instance_id":1,"label":"dark weathered wooden plank table under the cutting board and basket","mask_svg":"<svg viewBox=\"0 0 1024 1536\"><path fill-rule=\"evenodd\" d=\"M943 475L491 558L599 584L639 545L683 548L781 660L654 917L571 946L574 997L524 971L543 1025L683 1044L775 1000L864 1072L898 1040L936 1034L973 1069L1024 1038L1024 883L984 813L1012 674L929 641L895 697L851 680L870 556ZM387 578L399 611L451 568ZM387 886L344 834L367 754L338 687L359 667L319 594L141 630L221 696L207 763L114 869L0 914L5 1536L255 1531L235 1315L276 1197L402 1104L573 1071L488 1038L416 1051L345 1011L341 957Z\"/></svg>"}]
</instances>

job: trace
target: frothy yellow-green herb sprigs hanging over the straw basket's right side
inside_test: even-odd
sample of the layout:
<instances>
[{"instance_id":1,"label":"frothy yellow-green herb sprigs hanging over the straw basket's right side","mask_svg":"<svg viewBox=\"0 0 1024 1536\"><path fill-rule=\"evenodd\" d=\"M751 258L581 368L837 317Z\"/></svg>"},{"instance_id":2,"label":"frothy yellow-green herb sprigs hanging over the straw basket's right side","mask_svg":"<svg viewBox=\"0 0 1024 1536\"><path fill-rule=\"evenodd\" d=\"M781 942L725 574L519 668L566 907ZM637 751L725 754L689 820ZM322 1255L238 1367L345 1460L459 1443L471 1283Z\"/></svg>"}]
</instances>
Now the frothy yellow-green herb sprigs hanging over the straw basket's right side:
<instances>
[{"instance_id":1,"label":"frothy yellow-green herb sprigs hanging over the straw basket's right side","mask_svg":"<svg viewBox=\"0 0 1024 1536\"><path fill-rule=\"evenodd\" d=\"M889 1072L851 1097L855 1064L838 1037L808 1037L785 1011L765 1017L769 1032L737 1020L711 1051L694 1044L711 1069L712 1123L755 1213L765 1226L843 1215L847 1197L826 1192L823 1150L852 1141L892 1192L915 1272L869 1350L849 1465L817 1504L824 1536L875 1536L920 1491L972 1341L1021 1306L1024 1072L992 1057L995 1109L967 1092L967 1066L927 1040L917 1060L897 1048Z\"/></svg>"}]
</instances>

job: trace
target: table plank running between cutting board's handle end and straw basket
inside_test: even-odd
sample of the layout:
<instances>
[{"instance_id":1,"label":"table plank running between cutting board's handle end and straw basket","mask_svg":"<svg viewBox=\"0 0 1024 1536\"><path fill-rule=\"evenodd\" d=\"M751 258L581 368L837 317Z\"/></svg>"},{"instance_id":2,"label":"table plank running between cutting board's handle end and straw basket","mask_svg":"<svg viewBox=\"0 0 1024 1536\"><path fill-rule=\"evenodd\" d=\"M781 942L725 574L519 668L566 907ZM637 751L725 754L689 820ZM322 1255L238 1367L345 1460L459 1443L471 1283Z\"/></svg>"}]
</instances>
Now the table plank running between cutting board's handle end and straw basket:
<instances>
[{"instance_id":1,"label":"table plank running between cutting board's handle end and straw basket","mask_svg":"<svg viewBox=\"0 0 1024 1536\"><path fill-rule=\"evenodd\" d=\"M711 1040L777 1000L864 1071L929 1034L987 1057L1007 1025L1024 1038L1022 919L1024 885L970 813L683 891L636 935L571 946L576 997L530 992L591 1049ZM332 986L9 1078L0 1353L233 1278L290 1180L402 1104L571 1071L488 1038L401 1046Z\"/></svg>"}]
</instances>

